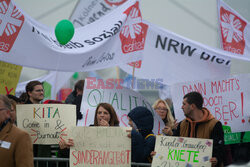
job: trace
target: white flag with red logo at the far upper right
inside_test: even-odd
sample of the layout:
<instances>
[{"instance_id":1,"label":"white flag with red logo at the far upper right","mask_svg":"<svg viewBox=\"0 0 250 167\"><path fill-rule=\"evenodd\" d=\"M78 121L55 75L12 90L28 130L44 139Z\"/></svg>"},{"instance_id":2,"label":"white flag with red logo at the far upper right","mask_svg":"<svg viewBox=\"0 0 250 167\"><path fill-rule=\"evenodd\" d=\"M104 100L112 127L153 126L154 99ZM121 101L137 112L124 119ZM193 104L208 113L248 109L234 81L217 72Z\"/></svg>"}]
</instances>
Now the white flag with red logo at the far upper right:
<instances>
[{"instance_id":1,"label":"white flag with red logo at the far upper right","mask_svg":"<svg viewBox=\"0 0 250 167\"><path fill-rule=\"evenodd\" d=\"M217 0L221 44L224 50L250 57L250 24L222 0Z\"/></svg>"}]
</instances>

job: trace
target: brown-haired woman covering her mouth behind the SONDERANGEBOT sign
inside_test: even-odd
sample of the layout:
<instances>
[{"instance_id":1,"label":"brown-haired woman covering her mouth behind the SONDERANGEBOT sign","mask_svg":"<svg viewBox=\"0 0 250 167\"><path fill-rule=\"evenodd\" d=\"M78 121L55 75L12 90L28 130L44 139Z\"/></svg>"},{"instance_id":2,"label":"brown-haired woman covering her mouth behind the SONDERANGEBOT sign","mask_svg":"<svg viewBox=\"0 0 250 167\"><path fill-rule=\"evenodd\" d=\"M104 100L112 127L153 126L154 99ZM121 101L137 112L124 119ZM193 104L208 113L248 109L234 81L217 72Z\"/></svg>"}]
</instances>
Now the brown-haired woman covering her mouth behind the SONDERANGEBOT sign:
<instances>
[{"instance_id":1,"label":"brown-haired woman covering her mouth behind the SONDERANGEBOT sign","mask_svg":"<svg viewBox=\"0 0 250 167\"><path fill-rule=\"evenodd\" d=\"M119 126L119 120L113 106L108 103L98 104L95 110L94 124L90 126ZM73 139L69 139L68 142L61 140L59 146L60 149L69 148L74 146L74 141Z\"/></svg>"}]
</instances>

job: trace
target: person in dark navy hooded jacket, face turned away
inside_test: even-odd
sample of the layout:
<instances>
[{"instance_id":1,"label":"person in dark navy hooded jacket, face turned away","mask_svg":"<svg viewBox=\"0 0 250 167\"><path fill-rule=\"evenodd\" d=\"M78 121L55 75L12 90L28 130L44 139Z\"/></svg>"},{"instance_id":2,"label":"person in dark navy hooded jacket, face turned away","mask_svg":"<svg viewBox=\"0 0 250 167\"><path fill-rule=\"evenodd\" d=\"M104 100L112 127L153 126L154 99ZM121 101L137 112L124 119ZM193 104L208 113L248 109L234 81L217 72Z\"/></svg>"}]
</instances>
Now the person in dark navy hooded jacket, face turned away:
<instances>
[{"instance_id":1,"label":"person in dark navy hooded jacket, face turned away","mask_svg":"<svg viewBox=\"0 0 250 167\"><path fill-rule=\"evenodd\" d=\"M132 162L151 163L151 152L155 147L155 136L152 132L154 118L146 107L136 107L128 114L129 125L132 127L131 145Z\"/></svg>"}]
</instances>

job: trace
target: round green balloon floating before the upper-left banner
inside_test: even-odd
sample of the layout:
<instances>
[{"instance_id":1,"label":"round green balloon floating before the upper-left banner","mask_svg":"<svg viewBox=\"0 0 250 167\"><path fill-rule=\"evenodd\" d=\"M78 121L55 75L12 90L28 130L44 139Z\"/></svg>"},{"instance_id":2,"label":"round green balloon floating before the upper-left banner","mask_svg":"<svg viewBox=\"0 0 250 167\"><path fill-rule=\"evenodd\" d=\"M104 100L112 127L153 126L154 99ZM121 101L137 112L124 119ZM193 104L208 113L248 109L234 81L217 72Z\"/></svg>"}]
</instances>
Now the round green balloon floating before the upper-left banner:
<instances>
[{"instance_id":1,"label":"round green balloon floating before the upper-left banner","mask_svg":"<svg viewBox=\"0 0 250 167\"><path fill-rule=\"evenodd\" d=\"M55 35L61 45L67 44L75 32L74 25L69 20L61 20L56 25Z\"/></svg>"}]
</instances>

